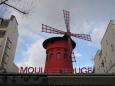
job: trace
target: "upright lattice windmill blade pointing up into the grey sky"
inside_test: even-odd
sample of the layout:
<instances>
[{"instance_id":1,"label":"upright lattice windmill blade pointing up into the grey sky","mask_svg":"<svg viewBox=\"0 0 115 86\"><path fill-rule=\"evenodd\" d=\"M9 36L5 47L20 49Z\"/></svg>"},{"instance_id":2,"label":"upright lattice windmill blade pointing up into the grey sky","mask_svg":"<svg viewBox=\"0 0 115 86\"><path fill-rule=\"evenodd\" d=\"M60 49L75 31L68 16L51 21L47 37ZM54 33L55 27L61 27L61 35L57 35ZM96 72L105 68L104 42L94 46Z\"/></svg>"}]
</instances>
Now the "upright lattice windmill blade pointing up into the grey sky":
<instances>
[{"instance_id":1,"label":"upright lattice windmill blade pointing up into the grey sky","mask_svg":"<svg viewBox=\"0 0 115 86\"><path fill-rule=\"evenodd\" d=\"M70 33L70 13L69 11L63 10L63 14L67 32Z\"/></svg>"}]
</instances>

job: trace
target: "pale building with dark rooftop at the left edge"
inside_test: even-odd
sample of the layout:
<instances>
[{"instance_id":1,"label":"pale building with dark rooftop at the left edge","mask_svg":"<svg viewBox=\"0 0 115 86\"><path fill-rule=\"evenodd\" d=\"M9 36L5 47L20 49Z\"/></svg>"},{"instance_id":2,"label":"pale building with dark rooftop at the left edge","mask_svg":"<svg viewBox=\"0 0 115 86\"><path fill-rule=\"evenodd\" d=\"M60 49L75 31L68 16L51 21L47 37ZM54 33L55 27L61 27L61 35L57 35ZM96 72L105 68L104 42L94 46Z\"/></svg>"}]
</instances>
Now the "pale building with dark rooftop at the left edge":
<instances>
[{"instance_id":1,"label":"pale building with dark rooftop at the left edge","mask_svg":"<svg viewBox=\"0 0 115 86\"><path fill-rule=\"evenodd\" d=\"M0 19L0 72L18 72L14 56L18 39L18 23L15 16Z\"/></svg>"}]
</instances>

